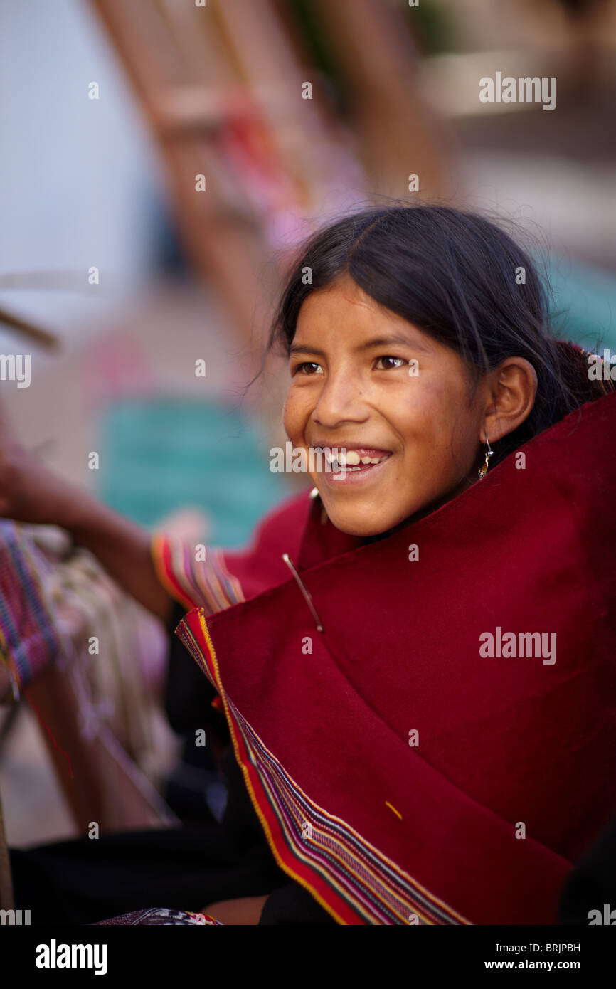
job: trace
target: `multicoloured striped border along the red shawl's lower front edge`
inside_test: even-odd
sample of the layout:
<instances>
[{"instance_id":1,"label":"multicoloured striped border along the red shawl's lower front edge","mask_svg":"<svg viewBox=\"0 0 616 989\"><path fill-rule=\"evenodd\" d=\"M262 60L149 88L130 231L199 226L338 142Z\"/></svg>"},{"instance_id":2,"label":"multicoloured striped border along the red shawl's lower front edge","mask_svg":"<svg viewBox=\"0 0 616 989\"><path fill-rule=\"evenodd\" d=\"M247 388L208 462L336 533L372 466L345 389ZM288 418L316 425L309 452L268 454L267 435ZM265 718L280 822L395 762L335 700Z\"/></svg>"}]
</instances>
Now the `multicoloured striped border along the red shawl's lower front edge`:
<instances>
[{"instance_id":1,"label":"multicoloured striped border along the red shawl's lower front edge","mask_svg":"<svg viewBox=\"0 0 616 989\"><path fill-rule=\"evenodd\" d=\"M220 692L235 758L281 868L339 924L470 924L345 821L309 799L225 695L203 612L200 624L211 663L186 623L180 637Z\"/></svg>"}]
</instances>

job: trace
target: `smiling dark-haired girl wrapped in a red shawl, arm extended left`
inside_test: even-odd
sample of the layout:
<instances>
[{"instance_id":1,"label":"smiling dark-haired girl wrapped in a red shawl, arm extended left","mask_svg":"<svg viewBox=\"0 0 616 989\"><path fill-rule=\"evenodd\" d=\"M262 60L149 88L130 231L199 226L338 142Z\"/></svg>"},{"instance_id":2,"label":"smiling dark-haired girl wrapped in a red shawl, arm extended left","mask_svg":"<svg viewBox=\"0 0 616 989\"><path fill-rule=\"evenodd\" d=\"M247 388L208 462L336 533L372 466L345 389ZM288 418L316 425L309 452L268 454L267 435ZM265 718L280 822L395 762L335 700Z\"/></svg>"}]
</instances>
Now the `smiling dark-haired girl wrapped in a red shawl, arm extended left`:
<instances>
[{"instance_id":1,"label":"smiling dark-haired girl wrapped in a red shawl, arm extended left","mask_svg":"<svg viewBox=\"0 0 616 989\"><path fill-rule=\"evenodd\" d=\"M290 441L344 470L313 471L246 552L196 563L8 438L0 511L68 529L163 620L188 612L279 869L210 897L220 920L555 923L616 808L611 384L551 335L530 257L443 207L315 233L270 346ZM555 635L558 663L485 658L495 627Z\"/></svg>"}]
</instances>

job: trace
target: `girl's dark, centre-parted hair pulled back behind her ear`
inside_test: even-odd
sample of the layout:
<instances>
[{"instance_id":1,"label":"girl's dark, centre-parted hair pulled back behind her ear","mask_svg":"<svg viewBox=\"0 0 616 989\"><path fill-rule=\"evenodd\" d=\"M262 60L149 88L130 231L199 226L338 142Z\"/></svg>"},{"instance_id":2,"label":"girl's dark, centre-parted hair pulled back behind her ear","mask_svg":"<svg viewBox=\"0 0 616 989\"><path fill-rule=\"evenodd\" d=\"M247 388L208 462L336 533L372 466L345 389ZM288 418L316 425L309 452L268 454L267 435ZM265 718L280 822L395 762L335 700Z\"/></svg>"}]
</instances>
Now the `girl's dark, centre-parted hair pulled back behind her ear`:
<instances>
[{"instance_id":1,"label":"girl's dark, centre-parted hair pulled back behind her ear","mask_svg":"<svg viewBox=\"0 0 616 989\"><path fill-rule=\"evenodd\" d=\"M533 365L535 404L517 429L493 444L490 466L605 394L603 382L588 379L585 351L552 335L547 290L530 255L484 217L443 206L390 206L317 230L288 277L268 349L282 344L288 355L308 295L345 274L460 354L472 388L506 357Z\"/></svg>"}]
</instances>

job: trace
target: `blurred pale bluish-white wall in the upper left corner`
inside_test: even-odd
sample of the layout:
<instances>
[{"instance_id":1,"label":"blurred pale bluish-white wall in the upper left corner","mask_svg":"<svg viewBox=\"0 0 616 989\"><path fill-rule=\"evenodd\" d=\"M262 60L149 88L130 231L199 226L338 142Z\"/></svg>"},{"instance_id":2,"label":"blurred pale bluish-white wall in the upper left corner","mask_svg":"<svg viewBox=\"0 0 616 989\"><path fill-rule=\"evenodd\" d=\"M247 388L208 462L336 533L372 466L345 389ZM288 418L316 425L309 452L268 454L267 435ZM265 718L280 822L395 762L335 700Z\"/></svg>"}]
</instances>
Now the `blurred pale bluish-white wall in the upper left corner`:
<instances>
[{"instance_id":1,"label":"blurred pale bluish-white wall in the upper left corner","mask_svg":"<svg viewBox=\"0 0 616 989\"><path fill-rule=\"evenodd\" d=\"M100 99L88 98L88 83ZM86 0L0 0L0 275L77 269L84 294L2 290L0 305L63 337L126 297L150 266L160 166L132 92ZM0 333L2 330L0 328ZM2 333L0 349L20 351Z\"/></svg>"}]
</instances>

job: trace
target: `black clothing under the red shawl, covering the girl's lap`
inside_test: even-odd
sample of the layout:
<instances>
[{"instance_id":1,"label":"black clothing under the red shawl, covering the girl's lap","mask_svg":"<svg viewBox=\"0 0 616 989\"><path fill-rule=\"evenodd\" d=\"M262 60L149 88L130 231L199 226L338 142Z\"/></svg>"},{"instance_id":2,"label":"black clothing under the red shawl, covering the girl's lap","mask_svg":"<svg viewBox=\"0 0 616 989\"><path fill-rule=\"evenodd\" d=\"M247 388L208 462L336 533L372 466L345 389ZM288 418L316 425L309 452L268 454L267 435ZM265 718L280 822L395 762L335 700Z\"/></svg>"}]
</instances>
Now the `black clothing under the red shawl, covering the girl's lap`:
<instances>
[{"instance_id":1,"label":"black clothing under the red shawl, covering the girl's lap","mask_svg":"<svg viewBox=\"0 0 616 989\"><path fill-rule=\"evenodd\" d=\"M184 613L176 606L172 629ZM16 908L30 910L33 925L93 924L148 907L198 911L218 900L268 893L273 896L262 924L335 924L277 865L228 745L226 722L211 706L215 696L172 636L165 701L171 726L187 733L205 728L220 746L227 743L222 768L228 796L221 823L9 850Z\"/></svg>"}]
</instances>

